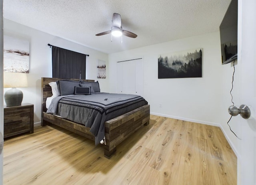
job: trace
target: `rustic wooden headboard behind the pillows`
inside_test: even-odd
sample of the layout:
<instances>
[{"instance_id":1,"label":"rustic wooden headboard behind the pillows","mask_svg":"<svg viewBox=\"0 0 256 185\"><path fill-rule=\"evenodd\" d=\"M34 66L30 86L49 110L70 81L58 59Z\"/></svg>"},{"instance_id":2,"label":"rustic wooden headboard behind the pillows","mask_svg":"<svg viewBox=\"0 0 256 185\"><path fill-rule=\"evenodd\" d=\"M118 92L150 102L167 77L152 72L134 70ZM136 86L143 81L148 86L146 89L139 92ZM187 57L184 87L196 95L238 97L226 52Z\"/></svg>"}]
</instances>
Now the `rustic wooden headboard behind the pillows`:
<instances>
[{"instance_id":1,"label":"rustic wooden headboard behind the pillows","mask_svg":"<svg viewBox=\"0 0 256 185\"><path fill-rule=\"evenodd\" d=\"M45 78L42 77L42 114L43 112L46 112L46 98L52 96L52 88L50 87L49 83L50 82L56 82L58 80L67 80L67 79L59 79L59 78ZM68 79L68 80L75 80L79 81L79 79ZM83 80L85 82L94 82L94 80Z\"/></svg>"}]
</instances>

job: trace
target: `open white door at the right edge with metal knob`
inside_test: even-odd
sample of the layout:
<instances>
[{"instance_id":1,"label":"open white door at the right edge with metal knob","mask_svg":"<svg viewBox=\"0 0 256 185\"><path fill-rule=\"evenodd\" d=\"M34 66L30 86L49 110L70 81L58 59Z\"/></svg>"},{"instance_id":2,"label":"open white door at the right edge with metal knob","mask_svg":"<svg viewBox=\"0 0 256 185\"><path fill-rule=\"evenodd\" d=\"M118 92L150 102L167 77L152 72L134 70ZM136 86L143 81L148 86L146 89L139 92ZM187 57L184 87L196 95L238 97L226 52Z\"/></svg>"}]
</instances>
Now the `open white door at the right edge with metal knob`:
<instances>
[{"instance_id":1,"label":"open white door at the right edge with metal knob","mask_svg":"<svg viewBox=\"0 0 256 185\"><path fill-rule=\"evenodd\" d=\"M250 107L249 119L240 119L238 185L256 185L256 1L238 0L238 70L241 104Z\"/></svg>"}]
</instances>

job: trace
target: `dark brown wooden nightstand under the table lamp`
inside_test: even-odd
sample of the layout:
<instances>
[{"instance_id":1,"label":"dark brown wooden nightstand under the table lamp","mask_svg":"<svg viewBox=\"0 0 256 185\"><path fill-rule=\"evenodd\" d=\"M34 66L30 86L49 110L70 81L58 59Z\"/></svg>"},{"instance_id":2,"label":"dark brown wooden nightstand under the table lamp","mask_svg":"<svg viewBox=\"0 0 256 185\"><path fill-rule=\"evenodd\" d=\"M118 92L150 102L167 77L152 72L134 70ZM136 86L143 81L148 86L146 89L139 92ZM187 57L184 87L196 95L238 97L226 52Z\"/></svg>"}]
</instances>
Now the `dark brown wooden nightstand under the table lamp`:
<instances>
[{"instance_id":1,"label":"dark brown wooden nightstand under the table lamp","mask_svg":"<svg viewBox=\"0 0 256 185\"><path fill-rule=\"evenodd\" d=\"M34 105L4 106L4 138L34 132Z\"/></svg>"}]
</instances>

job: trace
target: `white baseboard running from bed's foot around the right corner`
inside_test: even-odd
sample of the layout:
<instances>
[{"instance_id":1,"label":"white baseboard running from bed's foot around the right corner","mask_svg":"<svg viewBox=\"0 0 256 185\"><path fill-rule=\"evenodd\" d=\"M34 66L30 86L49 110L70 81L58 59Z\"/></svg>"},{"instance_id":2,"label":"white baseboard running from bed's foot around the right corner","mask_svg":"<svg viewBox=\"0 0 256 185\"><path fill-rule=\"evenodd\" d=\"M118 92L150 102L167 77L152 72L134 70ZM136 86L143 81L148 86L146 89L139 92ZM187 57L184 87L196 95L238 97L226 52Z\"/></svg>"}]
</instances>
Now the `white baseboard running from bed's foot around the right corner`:
<instances>
[{"instance_id":1,"label":"white baseboard running from bed's foot around the right corner","mask_svg":"<svg viewBox=\"0 0 256 185\"><path fill-rule=\"evenodd\" d=\"M200 124L206 124L206 125L210 125L210 126L218 126L220 127L220 129L222 130L226 140L228 141L230 147L232 148L232 150L234 151L234 153L236 154L236 157L240 157L236 147L234 146L234 144L231 142L231 140L229 139L228 135L226 134L226 132L224 131L224 129L222 128L221 124L219 123L213 123L213 122L206 122L206 121L202 121L202 120L194 120L194 119L190 119L190 118L182 118L182 117L178 117L178 116L172 116L172 115L166 115L166 114L159 114L159 113L155 113L155 112L150 112L150 114L152 115L156 115L156 116L162 116L162 117L166 117L166 118L173 118L173 119L177 119L177 120L183 120L183 121L188 121L188 122L195 122L195 123L200 123Z\"/></svg>"}]
</instances>

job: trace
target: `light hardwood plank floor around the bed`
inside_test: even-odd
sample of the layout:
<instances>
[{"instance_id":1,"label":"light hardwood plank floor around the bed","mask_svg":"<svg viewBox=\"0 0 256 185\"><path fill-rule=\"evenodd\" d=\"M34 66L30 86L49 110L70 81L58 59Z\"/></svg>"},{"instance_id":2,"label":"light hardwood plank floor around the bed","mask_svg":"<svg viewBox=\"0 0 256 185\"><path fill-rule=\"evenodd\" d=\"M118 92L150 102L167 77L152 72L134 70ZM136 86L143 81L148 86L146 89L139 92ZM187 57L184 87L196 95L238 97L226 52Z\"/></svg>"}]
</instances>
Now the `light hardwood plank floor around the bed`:
<instances>
[{"instance_id":1,"label":"light hardwood plank floor around the bed","mask_svg":"<svg viewBox=\"0 0 256 185\"><path fill-rule=\"evenodd\" d=\"M220 128L151 115L111 159L56 126L6 140L4 185L235 185L236 163Z\"/></svg>"}]
</instances>

